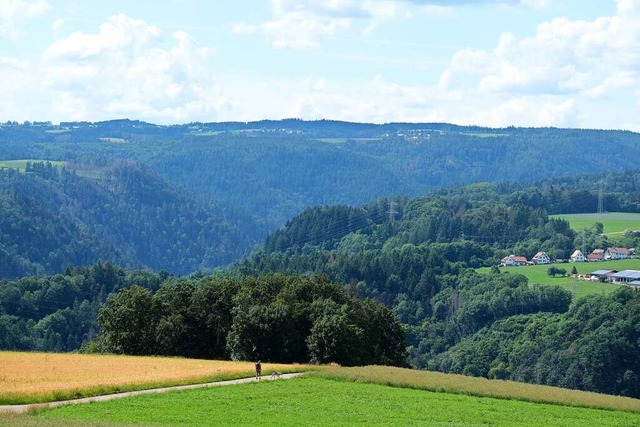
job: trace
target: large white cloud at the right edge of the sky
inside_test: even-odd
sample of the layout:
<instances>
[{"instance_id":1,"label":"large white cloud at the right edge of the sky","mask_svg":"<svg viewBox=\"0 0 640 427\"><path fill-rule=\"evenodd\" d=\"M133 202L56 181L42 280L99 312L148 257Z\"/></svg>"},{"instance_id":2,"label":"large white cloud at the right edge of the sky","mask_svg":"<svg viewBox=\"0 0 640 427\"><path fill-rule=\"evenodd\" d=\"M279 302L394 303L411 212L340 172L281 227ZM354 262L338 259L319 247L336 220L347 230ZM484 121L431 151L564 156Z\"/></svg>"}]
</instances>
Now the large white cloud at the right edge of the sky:
<instances>
[{"instance_id":1,"label":"large white cloud at the right edge of the sky","mask_svg":"<svg viewBox=\"0 0 640 427\"><path fill-rule=\"evenodd\" d=\"M493 50L460 50L439 87L493 102L471 116L477 123L593 126L593 103L640 88L640 3L619 0L617 10L543 22L531 37L505 33Z\"/></svg>"}]
</instances>

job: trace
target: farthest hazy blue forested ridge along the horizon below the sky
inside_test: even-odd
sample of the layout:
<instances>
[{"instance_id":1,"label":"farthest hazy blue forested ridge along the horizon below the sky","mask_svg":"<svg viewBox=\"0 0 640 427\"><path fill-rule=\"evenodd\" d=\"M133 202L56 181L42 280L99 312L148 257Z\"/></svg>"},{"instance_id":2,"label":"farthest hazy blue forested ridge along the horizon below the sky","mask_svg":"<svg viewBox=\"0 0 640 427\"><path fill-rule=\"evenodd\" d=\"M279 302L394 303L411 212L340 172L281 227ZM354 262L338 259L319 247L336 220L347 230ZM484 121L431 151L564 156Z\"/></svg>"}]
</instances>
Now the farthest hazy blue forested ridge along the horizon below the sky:
<instances>
[{"instance_id":1,"label":"farthest hazy blue forested ridge along the horizon below the sky","mask_svg":"<svg viewBox=\"0 0 640 427\"><path fill-rule=\"evenodd\" d=\"M355 206L473 182L621 172L635 168L629 159L636 158L640 135L626 131L325 120L0 126L0 166L2 160L44 159L92 170L133 160L244 211L264 230L316 205ZM587 190L597 188L587 184Z\"/></svg>"}]
</instances>

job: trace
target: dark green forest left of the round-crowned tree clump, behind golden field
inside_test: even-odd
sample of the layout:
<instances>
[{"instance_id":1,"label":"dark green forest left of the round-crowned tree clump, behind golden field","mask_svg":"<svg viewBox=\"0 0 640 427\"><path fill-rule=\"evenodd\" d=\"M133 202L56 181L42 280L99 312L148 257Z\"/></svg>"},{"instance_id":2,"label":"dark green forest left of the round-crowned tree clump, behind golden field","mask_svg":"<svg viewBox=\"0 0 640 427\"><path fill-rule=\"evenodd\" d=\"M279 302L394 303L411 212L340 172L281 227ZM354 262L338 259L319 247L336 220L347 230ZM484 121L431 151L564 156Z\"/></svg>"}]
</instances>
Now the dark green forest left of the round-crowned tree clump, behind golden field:
<instances>
[{"instance_id":1,"label":"dark green forest left of the round-crowned tree clump, behind golden field","mask_svg":"<svg viewBox=\"0 0 640 427\"><path fill-rule=\"evenodd\" d=\"M156 291L169 277L99 263L0 281L0 349L78 350L100 331L98 312L110 294L134 285Z\"/></svg>"}]
</instances>

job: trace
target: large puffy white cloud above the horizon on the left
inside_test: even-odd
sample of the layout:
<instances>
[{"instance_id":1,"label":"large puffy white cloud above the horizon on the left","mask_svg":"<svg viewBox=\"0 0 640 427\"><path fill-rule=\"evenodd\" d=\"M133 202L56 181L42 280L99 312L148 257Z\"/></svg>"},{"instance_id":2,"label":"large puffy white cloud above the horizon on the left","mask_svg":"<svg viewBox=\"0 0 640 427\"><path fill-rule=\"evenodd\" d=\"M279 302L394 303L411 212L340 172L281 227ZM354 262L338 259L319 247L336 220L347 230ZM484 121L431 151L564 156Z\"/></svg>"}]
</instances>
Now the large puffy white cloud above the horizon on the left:
<instances>
[{"instance_id":1,"label":"large puffy white cloud above the horizon on the left","mask_svg":"<svg viewBox=\"0 0 640 427\"><path fill-rule=\"evenodd\" d=\"M118 14L97 33L52 43L42 55L41 86L62 120L215 120L227 100L206 68L210 52L185 32L167 40L158 27Z\"/></svg>"}]
</instances>

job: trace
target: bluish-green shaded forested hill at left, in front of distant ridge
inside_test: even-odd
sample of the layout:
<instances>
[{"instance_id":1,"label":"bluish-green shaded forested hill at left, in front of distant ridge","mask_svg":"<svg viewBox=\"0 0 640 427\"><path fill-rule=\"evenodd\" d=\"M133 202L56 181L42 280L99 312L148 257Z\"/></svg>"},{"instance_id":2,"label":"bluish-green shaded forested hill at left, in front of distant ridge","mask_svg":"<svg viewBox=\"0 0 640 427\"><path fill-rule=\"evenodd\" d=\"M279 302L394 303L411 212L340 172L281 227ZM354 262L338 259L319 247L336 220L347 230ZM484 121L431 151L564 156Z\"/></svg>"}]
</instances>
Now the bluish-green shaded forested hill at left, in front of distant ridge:
<instances>
[{"instance_id":1,"label":"bluish-green shaded forested hill at left, in front of distant ridge","mask_svg":"<svg viewBox=\"0 0 640 427\"><path fill-rule=\"evenodd\" d=\"M250 223L139 165L86 177L27 163L0 169L0 278L97 261L188 274L241 256Z\"/></svg>"}]
</instances>

